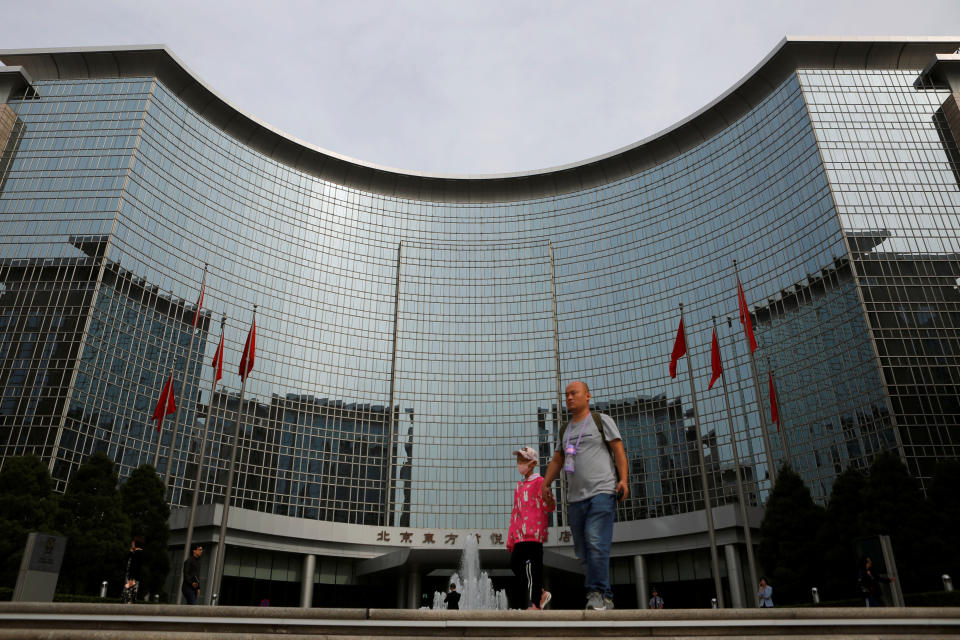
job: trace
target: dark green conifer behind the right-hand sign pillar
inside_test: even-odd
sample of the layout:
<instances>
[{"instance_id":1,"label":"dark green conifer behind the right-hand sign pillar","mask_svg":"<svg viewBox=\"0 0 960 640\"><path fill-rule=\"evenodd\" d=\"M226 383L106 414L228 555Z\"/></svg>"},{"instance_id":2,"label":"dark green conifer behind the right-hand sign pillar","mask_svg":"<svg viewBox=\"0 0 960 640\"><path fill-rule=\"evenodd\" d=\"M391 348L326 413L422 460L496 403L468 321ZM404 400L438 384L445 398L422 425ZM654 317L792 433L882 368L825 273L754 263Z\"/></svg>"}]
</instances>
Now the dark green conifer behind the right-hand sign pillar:
<instances>
[{"instance_id":1,"label":"dark green conifer behind the right-hand sign pillar","mask_svg":"<svg viewBox=\"0 0 960 640\"><path fill-rule=\"evenodd\" d=\"M870 465L862 525L867 535L890 536L904 592L940 586L935 564L943 548L934 531L933 511L920 484L892 451Z\"/></svg>"}]
</instances>

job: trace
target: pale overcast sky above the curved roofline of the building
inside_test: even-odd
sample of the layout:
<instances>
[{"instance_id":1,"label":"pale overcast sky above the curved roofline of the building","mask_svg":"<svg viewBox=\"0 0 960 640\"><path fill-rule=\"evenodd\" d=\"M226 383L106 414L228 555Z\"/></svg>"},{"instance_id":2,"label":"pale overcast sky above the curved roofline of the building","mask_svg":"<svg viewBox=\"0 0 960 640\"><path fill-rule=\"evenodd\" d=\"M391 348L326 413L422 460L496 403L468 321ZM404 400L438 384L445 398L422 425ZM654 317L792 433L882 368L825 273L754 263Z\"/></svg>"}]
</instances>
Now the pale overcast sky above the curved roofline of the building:
<instances>
[{"instance_id":1,"label":"pale overcast sky above the curved roofline of the building","mask_svg":"<svg viewBox=\"0 0 960 640\"><path fill-rule=\"evenodd\" d=\"M645 138L785 35L960 35L960 0L31 0L0 48L166 44L245 112L431 173L527 171Z\"/></svg>"}]
</instances>

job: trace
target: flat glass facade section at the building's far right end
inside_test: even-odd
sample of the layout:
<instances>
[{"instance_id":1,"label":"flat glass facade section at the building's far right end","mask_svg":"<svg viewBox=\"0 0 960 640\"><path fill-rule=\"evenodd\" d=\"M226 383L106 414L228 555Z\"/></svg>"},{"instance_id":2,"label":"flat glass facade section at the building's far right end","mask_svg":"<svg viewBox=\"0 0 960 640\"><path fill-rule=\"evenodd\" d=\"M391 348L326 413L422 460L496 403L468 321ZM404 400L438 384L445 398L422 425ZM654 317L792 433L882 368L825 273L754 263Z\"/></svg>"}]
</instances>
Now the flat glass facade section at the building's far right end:
<instances>
[{"instance_id":1,"label":"flat glass facade section at the building's far right end","mask_svg":"<svg viewBox=\"0 0 960 640\"><path fill-rule=\"evenodd\" d=\"M923 482L960 456L956 98L906 70L799 75L896 427L881 446Z\"/></svg>"}]
</instances>

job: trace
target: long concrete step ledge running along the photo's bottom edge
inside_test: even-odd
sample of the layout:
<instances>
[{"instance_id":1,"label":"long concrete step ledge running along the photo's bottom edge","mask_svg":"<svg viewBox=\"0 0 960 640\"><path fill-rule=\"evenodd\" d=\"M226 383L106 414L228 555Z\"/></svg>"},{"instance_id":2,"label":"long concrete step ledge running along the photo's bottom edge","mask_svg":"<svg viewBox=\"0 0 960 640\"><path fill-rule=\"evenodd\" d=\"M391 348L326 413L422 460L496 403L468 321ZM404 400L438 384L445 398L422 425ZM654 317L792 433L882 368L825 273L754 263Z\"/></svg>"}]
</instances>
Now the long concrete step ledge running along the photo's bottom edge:
<instances>
[{"instance_id":1,"label":"long concrete step ledge running along the photo's bottom edge","mask_svg":"<svg viewBox=\"0 0 960 640\"><path fill-rule=\"evenodd\" d=\"M0 603L0 640L129 638L958 638L960 608L414 611Z\"/></svg>"}]
</instances>

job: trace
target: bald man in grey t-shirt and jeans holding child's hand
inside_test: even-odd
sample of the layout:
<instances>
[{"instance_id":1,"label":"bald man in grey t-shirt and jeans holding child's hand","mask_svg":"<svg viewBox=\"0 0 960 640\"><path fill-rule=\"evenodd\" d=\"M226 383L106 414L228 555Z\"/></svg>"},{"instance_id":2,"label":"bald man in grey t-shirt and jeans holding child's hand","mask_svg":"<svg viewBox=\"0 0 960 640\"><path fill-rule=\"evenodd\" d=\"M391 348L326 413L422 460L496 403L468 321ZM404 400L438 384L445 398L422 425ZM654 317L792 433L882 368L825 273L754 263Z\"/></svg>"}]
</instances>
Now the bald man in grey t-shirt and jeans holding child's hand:
<instances>
[{"instance_id":1,"label":"bald man in grey t-shirt and jeans holding child's hand","mask_svg":"<svg viewBox=\"0 0 960 640\"><path fill-rule=\"evenodd\" d=\"M557 450L543 479L544 498L560 475L567 477L567 516L573 548L583 565L587 609L612 609L610 545L617 500L629 494L627 455L616 423L590 411L585 382L567 385L570 422L560 431Z\"/></svg>"}]
</instances>

